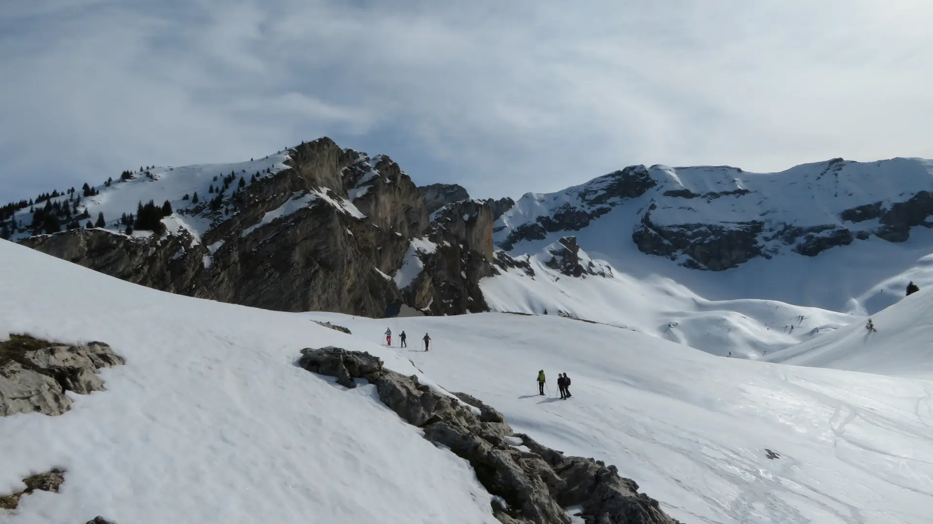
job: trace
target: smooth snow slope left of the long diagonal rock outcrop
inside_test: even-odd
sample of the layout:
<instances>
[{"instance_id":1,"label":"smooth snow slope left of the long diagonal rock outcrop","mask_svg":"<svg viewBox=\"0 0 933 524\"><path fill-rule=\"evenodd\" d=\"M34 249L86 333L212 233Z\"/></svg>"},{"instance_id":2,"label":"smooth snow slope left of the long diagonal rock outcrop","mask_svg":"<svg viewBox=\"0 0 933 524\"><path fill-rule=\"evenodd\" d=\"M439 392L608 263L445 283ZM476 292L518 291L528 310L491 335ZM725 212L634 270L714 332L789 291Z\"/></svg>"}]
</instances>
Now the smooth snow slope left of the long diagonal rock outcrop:
<instances>
[{"instance_id":1,"label":"smooth snow slope left of the long diagonal rock outcrop","mask_svg":"<svg viewBox=\"0 0 933 524\"><path fill-rule=\"evenodd\" d=\"M0 495L66 470L8 524L496 523L468 463L379 402L295 365L304 347L404 356L306 316L176 296L0 241L0 337L102 340L126 365L71 411L0 418ZM429 382L429 380L427 380Z\"/></svg>"}]
</instances>

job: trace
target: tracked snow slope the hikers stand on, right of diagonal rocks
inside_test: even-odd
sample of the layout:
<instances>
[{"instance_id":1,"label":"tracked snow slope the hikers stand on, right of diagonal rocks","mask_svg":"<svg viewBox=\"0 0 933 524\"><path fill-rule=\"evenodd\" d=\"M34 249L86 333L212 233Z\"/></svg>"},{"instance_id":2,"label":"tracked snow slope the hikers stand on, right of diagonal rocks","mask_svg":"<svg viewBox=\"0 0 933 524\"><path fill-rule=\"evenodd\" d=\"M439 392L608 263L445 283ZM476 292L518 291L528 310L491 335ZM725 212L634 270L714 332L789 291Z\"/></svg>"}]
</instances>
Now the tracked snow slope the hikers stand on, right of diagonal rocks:
<instances>
[{"instance_id":1,"label":"tracked snow slope the hikers stand on, right of diagonal rocks","mask_svg":"<svg viewBox=\"0 0 933 524\"><path fill-rule=\"evenodd\" d=\"M425 374L543 444L617 464L684 522L933 521L930 381L717 358L555 316L309 316L369 340L405 330L411 348L396 351ZM558 372L573 379L569 400L555 398Z\"/></svg>"}]
</instances>

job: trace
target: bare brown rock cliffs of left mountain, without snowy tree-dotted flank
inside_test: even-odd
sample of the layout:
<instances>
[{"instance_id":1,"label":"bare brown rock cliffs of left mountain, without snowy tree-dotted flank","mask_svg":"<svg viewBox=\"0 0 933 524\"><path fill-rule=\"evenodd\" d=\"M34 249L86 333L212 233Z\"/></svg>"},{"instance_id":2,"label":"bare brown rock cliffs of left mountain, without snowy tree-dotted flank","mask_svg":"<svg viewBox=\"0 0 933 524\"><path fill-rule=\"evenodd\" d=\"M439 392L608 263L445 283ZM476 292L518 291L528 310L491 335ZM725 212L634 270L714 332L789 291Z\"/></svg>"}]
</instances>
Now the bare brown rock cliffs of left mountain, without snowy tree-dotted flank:
<instances>
[{"instance_id":1,"label":"bare brown rock cliffs of left mountain, without snowy tree-dotted flank","mask_svg":"<svg viewBox=\"0 0 933 524\"><path fill-rule=\"evenodd\" d=\"M165 234L77 228L21 243L132 283L270 310L378 317L398 300L425 312L486 309L476 281L492 260L489 206L466 203L432 224L425 195L397 163L327 138L287 151L277 172L257 174L229 194L226 183L216 193L212 184L212 200L176 200ZM208 226L188 226L198 223ZM403 293L391 276L419 238L439 248Z\"/></svg>"}]
</instances>

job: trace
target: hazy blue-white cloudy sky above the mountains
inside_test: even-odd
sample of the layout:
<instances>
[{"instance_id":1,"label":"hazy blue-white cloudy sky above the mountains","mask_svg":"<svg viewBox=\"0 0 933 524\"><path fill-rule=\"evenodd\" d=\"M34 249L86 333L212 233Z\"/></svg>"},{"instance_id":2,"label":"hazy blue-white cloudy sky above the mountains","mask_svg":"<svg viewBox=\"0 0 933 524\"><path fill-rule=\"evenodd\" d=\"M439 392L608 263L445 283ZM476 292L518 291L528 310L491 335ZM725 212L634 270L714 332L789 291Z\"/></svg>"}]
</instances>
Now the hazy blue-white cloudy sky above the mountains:
<instances>
[{"instance_id":1,"label":"hazy blue-white cloudy sky above the mountains","mask_svg":"<svg viewBox=\"0 0 933 524\"><path fill-rule=\"evenodd\" d=\"M2 4L4 201L321 135L476 197L933 158L928 0Z\"/></svg>"}]
</instances>

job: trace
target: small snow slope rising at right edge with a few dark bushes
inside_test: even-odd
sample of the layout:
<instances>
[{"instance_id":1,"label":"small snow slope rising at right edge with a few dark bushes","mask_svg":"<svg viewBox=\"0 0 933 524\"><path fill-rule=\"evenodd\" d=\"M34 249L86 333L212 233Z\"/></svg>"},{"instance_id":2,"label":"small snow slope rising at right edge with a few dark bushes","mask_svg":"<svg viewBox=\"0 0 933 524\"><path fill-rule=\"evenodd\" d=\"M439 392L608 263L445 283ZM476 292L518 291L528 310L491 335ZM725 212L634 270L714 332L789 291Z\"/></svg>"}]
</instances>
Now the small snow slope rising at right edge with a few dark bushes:
<instances>
[{"instance_id":1,"label":"small snow slope rising at right edge with a few dark bushes","mask_svg":"<svg viewBox=\"0 0 933 524\"><path fill-rule=\"evenodd\" d=\"M933 377L933 289L921 290L872 315L871 323L873 332L866 323L851 324L766 358L793 365Z\"/></svg>"}]
</instances>

